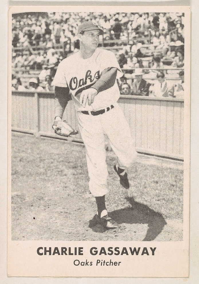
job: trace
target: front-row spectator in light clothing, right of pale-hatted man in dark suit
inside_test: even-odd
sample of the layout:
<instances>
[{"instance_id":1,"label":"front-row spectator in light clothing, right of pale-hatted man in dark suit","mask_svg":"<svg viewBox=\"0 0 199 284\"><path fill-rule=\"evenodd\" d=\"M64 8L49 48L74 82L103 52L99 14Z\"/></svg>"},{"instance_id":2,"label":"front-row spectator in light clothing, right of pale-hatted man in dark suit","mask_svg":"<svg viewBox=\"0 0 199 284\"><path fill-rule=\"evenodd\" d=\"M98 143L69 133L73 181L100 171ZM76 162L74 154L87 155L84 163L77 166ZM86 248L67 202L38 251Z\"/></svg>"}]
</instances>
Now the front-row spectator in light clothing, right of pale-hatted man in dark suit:
<instances>
[{"instance_id":1,"label":"front-row spectator in light clothing, right of pale-hatted man in dark suit","mask_svg":"<svg viewBox=\"0 0 199 284\"><path fill-rule=\"evenodd\" d=\"M170 86L165 80L163 71L159 71L156 75L157 81L153 85L153 96L155 97L174 97L174 85Z\"/></svg>"}]
</instances>

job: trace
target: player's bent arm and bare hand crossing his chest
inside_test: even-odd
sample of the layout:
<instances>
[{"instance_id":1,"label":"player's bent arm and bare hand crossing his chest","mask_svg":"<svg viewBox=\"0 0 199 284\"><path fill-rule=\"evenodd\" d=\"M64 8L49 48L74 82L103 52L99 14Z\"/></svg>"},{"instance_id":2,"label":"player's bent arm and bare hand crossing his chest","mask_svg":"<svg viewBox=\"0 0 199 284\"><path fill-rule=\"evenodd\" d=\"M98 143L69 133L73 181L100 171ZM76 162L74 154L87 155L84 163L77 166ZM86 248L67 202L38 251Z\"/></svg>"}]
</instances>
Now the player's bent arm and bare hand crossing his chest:
<instances>
[{"instance_id":1,"label":"player's bent arm and bare hand crossing his chest","mask_svg":"<svg viewBox=\"0 0 199 284\"><path fill-rule=\"evenodd\" d=\"M86 100L88 99L88 105L90 106L93 101L94 97L99 93L103 92L115 84L115 80L117 77L117 68L116 67L110 67L106 68L102 71L101 77L90 87L88 90L82 91L82 94L80 96L80 104L83 105L83 107L86 106Z\"/></svg>"}]
</instances>

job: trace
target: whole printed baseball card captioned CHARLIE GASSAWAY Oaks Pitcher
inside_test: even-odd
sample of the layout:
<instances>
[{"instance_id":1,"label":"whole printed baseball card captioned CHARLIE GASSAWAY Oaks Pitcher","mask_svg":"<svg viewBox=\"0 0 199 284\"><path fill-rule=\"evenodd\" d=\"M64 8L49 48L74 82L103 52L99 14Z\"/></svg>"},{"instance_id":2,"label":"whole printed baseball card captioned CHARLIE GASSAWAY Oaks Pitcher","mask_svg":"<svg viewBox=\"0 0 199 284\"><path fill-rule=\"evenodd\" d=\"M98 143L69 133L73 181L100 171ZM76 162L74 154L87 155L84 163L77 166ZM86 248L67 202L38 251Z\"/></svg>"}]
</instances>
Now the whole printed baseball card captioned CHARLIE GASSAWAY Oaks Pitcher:
<instances>
[{"instance_id":1,"label":"whole printed baseball card captioned CHARLIE GASSAWAY Oaks Pitcher","mask_svg":"<svg viewBox=\"0 0 199 284\"><path fill-rule=\"evenodd\" d=\"M7 275L188 277L190 7L9 9Z\"/></svg>"}]
</instances>

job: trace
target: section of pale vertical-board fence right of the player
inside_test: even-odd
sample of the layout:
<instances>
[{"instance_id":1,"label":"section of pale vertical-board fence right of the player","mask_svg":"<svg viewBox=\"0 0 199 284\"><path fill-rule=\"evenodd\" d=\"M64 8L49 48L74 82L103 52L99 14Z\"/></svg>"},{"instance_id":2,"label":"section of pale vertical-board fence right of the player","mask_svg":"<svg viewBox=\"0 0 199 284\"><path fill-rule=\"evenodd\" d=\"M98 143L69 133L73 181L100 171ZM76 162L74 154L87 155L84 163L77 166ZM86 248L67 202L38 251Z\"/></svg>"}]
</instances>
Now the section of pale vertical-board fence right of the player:
<instances>
[{"instance_id":1,"label":"section of pale vertical-board fence right of the player","mask_svg":"<svg viewBox=\"0 0 199 284\"><path fill-rule=\"evenodd\" d=\"M137 151L183 159L182 99L126 96L119 99ZM130 120L127 113L130 113Z\"/></svg>"}]
</instances>

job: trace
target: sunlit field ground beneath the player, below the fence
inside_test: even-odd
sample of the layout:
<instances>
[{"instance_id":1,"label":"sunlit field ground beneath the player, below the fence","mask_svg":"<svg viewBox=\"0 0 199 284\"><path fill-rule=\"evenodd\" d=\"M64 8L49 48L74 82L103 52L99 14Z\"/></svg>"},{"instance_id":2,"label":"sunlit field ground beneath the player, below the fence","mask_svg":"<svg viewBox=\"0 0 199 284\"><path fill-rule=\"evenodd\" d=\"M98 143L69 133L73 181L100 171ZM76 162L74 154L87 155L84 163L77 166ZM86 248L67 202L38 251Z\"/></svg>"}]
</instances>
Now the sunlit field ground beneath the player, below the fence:
<instances>
[{"instance_id":1,"label":"sunlit field ground beneath the player, below the fence","mask_svg":"<svg viewBox=\"0 0 199 284\"><path fill-rule=\"evenodd\" d=\"M124 190L107 152L107 209L117 229L89 228L96 213L85 147L12 134L12 240L182 240L183 166L149 158L128 171Z\"/></svg>"}]
</instances>

